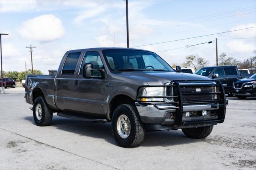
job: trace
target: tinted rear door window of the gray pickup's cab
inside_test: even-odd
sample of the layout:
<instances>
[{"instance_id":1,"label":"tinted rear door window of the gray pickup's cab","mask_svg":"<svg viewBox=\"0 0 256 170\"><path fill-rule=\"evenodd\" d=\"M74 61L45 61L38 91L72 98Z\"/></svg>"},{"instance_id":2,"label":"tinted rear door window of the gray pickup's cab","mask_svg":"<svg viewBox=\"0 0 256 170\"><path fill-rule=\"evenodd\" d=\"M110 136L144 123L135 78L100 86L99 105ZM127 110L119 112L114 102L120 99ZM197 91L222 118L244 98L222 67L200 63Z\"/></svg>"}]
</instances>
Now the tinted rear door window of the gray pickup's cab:
<instances>
[{"instance_id":1,"label":"tinted rear door window of the gray pickup's cab","mask_svg":"<svg viewBox=\"0 0 256 170\"><path fill-rule=\"evenodd\" d=\"M76 64L80 55L81 55L81 52L69 53L64 63L61 74L74 74L76 69Z\"/></svg>"}]
</instances>

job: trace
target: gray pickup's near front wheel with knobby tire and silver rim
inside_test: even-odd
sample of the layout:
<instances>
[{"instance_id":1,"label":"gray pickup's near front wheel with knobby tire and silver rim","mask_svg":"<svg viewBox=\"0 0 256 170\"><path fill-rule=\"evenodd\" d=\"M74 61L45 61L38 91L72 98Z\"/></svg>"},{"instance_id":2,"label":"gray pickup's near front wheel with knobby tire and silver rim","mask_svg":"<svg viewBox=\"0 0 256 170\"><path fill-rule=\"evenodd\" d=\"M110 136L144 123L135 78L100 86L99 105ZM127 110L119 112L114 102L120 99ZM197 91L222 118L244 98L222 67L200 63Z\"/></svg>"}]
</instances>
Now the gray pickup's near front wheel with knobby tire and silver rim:
<instances>
[{"instance_id":1,"label":"gray pickup's near front wheel with knobby tire and silver rim","mask_svg":"<svg viewBox=\"0 0 256 170\"><path fill-rule=\"evenodd\" d=\"M118 106L113 113L111 125L113 137L121 147L136 147L144 140L144 124L134 105Z\"/></svg>"}]
</instances>

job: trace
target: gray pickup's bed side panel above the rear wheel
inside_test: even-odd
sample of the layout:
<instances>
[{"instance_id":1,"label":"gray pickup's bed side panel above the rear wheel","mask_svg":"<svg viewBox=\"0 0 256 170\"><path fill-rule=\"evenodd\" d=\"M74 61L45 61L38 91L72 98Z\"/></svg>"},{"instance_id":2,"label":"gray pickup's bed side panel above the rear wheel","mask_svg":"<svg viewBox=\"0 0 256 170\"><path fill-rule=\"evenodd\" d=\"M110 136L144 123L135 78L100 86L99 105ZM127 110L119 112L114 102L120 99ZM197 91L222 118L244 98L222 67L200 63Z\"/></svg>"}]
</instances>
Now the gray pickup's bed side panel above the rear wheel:
<instances>
[{"instance_id":1,"label":"gray pickup's bed side panel above the rear wheel","mask_svg":"<svg viewBox=\"0 0 256 170\"><path fill-rule=\"evenodd\" d=\"M39 88L45 96L46 102L52 109L56 109L54 103L54 79L55 75L27 75L25 99L28 103L33 104L33 89Z\"/></svg>"}]
</instances>

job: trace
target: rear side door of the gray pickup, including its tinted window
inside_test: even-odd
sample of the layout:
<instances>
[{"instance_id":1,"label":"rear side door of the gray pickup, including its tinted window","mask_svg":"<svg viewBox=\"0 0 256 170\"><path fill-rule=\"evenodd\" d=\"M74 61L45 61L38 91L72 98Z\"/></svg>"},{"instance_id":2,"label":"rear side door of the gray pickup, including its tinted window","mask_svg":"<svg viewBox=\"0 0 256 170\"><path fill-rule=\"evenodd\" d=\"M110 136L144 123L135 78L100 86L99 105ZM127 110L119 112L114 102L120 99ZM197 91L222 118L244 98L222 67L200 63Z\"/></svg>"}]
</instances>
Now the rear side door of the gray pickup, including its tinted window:
<instances>
[{"instance_id":1,"label":"rear side door of the gray pickup, including its tinted window","mask_svg":"<svg viewBox=\"0 0 256 170\"><path fill-rule=\"evenodd\" d=\"M55 102L58 109L63 111L74 111L74 79L76 67L78 67L78 59L81 52L69 53L64 61L62 69L58 72L55 87Z\"/></svg>"}]
</instances>

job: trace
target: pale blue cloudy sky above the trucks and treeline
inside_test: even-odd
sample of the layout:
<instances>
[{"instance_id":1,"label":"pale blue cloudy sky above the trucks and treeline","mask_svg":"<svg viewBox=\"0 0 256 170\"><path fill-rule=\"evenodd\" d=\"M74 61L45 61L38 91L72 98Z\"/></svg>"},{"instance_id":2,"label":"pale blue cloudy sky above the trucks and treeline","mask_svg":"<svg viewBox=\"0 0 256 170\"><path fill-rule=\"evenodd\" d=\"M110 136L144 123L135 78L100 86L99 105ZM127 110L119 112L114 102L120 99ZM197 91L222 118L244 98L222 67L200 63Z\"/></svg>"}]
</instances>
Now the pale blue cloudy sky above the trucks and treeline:
<instances>
[{"instance_id":1,"label":"pale blue cloudy sky above the trucks and treeline","mask_svg":"<svg viewBox=\"0 0 256 170\"><path fill-rule=\"evenodd\" d=\"M129 0L130 46L146 45L214 34L256 25L255 0ZM123 0L29 0L0 1L3 70L24 71L31 67L26 46L33 51L34 69L45 74L58 69L65 51L89 47L126 47L126 16ZM182 64L197 54L215 64L215 42L186 48L218 38L218 53L236 59L252 56L256 29L248 29L190 40L138 47L157 52L170 65ZM236 39L250 38L250 39ZM228 39L228 40L222 40ZM180 48L184 47L184 48ZM174 49L179 48L179 49ZM55 57L55 58L51 58Z\"/></svg>"}]
</instances>

